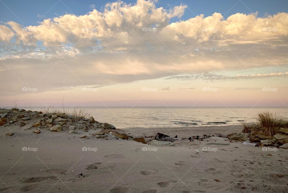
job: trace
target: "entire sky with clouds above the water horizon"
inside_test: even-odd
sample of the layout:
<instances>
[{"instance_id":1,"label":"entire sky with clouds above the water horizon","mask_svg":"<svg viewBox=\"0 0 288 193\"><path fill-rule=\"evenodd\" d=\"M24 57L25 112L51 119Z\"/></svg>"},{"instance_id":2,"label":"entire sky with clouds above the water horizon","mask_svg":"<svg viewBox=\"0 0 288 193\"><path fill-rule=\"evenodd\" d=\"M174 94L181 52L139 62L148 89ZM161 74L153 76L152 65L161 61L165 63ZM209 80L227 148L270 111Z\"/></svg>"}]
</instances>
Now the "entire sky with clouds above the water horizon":
<instances>
[{"instance_id":1,"label":"entire sky with clouds above the water horizon","mask_svg":"<svg viewBox=\"0 0 288 193\"><path fill-rule=\"evenodd\" d=\"M1 0L0 107L287 108L287 7Z\"/></svg>"}]
</instances>

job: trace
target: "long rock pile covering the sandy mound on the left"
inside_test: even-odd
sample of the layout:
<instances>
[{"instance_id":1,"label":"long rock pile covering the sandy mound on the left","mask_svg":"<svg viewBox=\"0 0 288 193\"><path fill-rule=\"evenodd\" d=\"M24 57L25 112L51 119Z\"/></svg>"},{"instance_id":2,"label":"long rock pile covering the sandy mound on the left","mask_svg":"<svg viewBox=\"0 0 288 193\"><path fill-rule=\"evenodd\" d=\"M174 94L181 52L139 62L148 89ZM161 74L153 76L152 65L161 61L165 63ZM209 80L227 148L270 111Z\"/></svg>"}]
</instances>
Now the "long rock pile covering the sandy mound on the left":
<instances>
[{"instance_id":1,"label":"long rock pile covering the sandy mound on the left","mask_svg":"<svg viewBox=\"0 0 288 193\"><path fill-rule=\"evenodd\" d=\"M142 137L132 137L125 133L125 131L116 129L115 126L109 123L101 123L95 121L91 116L89 118L75 117L66 115L65 113L42 113L38 111L26 111L24 109L1 109L0 108L0 126L6 127L16 125L27 128L25 130L35 127L33 133L41 133L42 129L53 132L64 132L73 135L81 134L79 138L104 138L112 135L116 139L130 139L140 143L146 143ZM7 133L7 136L12 136L13 133Z\"/></svg>"}]
</instances>

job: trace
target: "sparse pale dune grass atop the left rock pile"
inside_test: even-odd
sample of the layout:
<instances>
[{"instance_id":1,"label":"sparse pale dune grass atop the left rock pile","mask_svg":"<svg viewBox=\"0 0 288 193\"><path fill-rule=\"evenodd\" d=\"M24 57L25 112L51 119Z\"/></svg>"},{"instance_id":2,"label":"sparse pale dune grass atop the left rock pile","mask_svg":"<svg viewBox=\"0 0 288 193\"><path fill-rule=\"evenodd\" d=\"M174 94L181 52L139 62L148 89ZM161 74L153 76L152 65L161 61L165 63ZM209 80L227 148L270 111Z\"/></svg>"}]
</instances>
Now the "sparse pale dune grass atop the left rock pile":
<instances>
[{"instance_id":1,"label":"sparse pale dune grass atop the left rock pile","mask_svg":"<svg viewBox=\"0 0 288 193\"><path fill-rule=\"evenodd\" d=\"M90 114L88 113L87 110L79 108L79 107L72 107L72 108L67 108L63 110L58 110L54 108L53 106L49 106L49 107L41 107L40 110L42 113L65 113L66 115L72 115L74 117L83 117L83 118L88 118L90 116Z\"/></svg>"}]
</instances>

